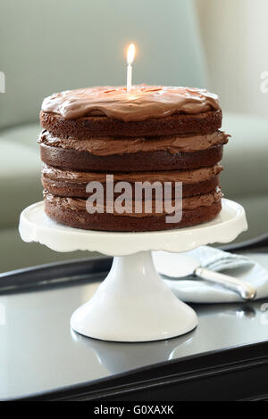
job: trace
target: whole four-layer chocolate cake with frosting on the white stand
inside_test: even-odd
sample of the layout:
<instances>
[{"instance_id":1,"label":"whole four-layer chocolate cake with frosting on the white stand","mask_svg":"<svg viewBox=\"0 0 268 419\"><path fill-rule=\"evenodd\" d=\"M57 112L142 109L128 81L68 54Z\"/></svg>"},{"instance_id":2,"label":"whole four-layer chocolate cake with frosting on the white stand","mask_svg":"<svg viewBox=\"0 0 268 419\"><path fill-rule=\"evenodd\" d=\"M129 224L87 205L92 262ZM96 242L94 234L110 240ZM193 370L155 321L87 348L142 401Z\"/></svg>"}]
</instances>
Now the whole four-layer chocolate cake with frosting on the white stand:
<instances>
[{"instance_id":1,"label":"whole four-layer chocolate cake with frosting on the white stand","mask_svg":"<svg viewBox=\"0 0 268 419\"><path fill-rule=\"evenodd\" d=\"M108 231L153 231L194 226L222 209L219 176L223 144L218 97L188 87L95 87L47 97L40 112L39 136L44 162L42 183L48 217L67 226ZM88 185L103 186L103 202L88 211ZM125 211L115 209L127 182L133 193ZM147 185L167 185L176 199L182 183L182 218L167 223L159 195ZM145 185L142 195L135 186ZM111 187L110 187L111 186ZM146 208L151 197L150 210ZM163 197L162 197L163 198ZM140 201L139 211L135 202Z\"/></svg>"}]
</instances>

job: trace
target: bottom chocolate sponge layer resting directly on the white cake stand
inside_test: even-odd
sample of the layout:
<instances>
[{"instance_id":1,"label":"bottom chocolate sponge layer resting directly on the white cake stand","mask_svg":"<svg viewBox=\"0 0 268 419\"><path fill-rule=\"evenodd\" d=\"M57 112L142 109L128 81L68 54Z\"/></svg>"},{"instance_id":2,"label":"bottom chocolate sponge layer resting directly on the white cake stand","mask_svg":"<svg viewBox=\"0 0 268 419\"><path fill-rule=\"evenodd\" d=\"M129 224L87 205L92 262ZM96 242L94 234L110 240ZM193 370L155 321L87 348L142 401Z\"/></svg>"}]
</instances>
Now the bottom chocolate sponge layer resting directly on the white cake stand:
<instances>
[{"instance_id":1,"label":"bottom chocolate sponge layer resting directly on the white cake stand","mask_svg":"<svg viewBox=\"0 0 268 419\"><path fill-rule=\"evenodd\" d=\"M89 214L86 210L86 201L84 203L81 203L81 201L60 198L46 193L46 214L58 223L82 229L144 232L195 226L211 221L222 209L221 199L209 200L211 201L209 205L184 209L179 223L166 223L166 214L147 215L146 217L142 214L139 217L132 217L130 215L114 215L106 212Z\"/></svg>"}]
</instances>

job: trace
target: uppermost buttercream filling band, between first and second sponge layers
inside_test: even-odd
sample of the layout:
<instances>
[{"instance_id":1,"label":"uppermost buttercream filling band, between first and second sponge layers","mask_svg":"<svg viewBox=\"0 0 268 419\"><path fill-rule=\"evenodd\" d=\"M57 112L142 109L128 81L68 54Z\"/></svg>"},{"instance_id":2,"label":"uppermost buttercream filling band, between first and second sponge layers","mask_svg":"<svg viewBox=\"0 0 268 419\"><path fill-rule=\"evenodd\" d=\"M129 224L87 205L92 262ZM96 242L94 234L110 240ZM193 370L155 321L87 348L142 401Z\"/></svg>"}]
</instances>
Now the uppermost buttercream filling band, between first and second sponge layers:
<instances>
[{"instance_id":1,"label":"uppermost buttercream filling band, between first and second sponge layers","mask_svg":"<svg viewBox=\"0 0 268 419\"><path fill-rule=\"evenodd\" d=\"M197 152L205 150L213 145L226 144L229 135L222 131L201 136L160 136L150 138L90 138L79 139L74 137L64 138L53 136L47 130L43 130L38 142L48 146L63 149L90 152L96 156L109 156L114 154L128 154L135 152L167 151Z\"/></svg>"}]
</instances>

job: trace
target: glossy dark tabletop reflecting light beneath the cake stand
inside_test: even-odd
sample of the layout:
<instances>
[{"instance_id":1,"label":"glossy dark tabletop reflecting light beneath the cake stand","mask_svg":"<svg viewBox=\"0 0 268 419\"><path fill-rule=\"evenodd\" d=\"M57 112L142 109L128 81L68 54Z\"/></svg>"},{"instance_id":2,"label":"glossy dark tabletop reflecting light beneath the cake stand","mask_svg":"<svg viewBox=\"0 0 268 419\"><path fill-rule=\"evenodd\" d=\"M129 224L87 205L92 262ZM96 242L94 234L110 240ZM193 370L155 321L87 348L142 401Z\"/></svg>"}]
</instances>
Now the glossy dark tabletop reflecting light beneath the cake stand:
<instances>
[{"instance_id":1,"label":"glossy dark tabletop reflecting light beneath the cake stand","mask_svg":"<svg viewBox=\"0 0 268 419\"><path fill-rule=\"evenodd\" d=\"M263 248L240 252L268 269L266 251ZM194 305L199 318L197 329L168 341L118 343L80 336L71 331L71 313L92 296L110 263L105 258L93 262L89 259L85 262L91 269L87 275L81 275L80 270L75 275L75 268L71 265L68 269L66 264L56 269L47 267L45 271L23 270L9 278L2 275L0 399L69 388L73 384L102 383L158 364L170 363L172 371L176 360L248 347L268 338L268 298L250 303ZM54 278L48 275L51 270ZM40 272L45 272L45 276ZM39 281L27 283L27 277L34 275ZM6 279L11 284L18 278L24 279L13 288L6 287Z\"/></svg>"}]
</instances>

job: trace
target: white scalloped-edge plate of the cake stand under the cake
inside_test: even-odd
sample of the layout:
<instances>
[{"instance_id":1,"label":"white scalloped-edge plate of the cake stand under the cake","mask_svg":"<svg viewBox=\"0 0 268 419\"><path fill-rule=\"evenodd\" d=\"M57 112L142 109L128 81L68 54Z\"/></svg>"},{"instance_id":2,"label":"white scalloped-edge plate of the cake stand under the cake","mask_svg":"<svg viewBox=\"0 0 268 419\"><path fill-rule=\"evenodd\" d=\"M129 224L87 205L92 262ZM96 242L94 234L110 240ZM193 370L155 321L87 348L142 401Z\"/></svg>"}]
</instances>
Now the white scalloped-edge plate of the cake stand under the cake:
<instances>
[{"instance_id":1,"label":"white scalloped-edge plate of the cake stand under the cake","mask_svg":"<svg viewBox=\"0 0 268 419\"><path fill-rule=\"evenodd\" d=\"M40 242L53 251L126 256L138 251L190 251L214 242L231 242L247 230L247 219L239 203L223 199L221 214L199 226L146 233L93 231L57 224L46 217L40 201L21 212L19 230L23 241Z\"/></svg>"}]
</instances>

